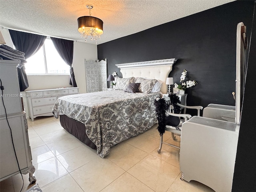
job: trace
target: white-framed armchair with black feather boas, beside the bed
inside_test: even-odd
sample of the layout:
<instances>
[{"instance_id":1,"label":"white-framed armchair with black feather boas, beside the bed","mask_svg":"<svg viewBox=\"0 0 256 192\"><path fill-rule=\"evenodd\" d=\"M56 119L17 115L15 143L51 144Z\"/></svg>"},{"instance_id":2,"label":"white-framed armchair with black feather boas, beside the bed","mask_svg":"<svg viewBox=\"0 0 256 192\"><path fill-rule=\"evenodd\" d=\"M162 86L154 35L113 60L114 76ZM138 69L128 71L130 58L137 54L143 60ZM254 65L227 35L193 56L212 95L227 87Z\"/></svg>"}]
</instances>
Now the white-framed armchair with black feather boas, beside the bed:
<instances>
[{"instance_id":1,"label":"white-framed armchair with black feather boas, beside the bed","mask_svg":"<svg viewBox=\"0 0 256 192\"><path fill-rule=\"evenodd\" d=\"M171 93L168 96L170 100L165 100L164 98L156 98L154 102L158 119L158 131L161 137L160 145L157 150L158 153L161 152L163 143L180 149L179 146L163 142L163 134L165 131L171 132L173 140L176 140L175 135L181 135L182 124L192 117L190 114L180 114L181 107L196 109L198 111L198 116L200 116L200 110L203 109L202 106L184 106L180 104L180 100L176 94Z\"/></svg>"}]
</instances>

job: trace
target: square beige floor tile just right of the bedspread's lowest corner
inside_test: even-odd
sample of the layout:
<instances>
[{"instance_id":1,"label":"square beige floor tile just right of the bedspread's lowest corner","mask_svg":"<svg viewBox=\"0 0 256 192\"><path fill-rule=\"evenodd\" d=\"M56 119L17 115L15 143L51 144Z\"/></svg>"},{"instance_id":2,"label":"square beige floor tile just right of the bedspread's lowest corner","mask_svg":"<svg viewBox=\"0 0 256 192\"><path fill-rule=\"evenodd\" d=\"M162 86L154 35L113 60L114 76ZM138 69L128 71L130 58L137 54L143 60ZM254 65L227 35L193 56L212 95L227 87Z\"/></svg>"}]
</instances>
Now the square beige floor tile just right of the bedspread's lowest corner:
<instances>
[{"instance_id":1,"label":"square beige floor tile just right of the bedspread's lowest corner","mask_svg":"<svg viewBox=\"0 0 256 192\"><path fill-rule=\"evenodd\" d=\"M127 171L147 155L148 153L126 142L121 142L106 158Z\"/></svg>"}]
</instances>

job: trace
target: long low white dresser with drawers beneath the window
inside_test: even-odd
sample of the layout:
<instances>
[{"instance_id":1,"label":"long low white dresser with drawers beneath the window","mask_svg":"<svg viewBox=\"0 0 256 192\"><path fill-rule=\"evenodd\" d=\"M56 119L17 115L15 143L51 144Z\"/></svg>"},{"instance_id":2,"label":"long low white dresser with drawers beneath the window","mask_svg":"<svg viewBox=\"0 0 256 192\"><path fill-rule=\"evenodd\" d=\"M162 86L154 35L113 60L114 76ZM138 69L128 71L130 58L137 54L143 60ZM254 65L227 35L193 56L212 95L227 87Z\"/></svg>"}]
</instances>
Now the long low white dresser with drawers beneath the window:
<instances>
[{"instance_id":1,"label":"long low white dresser with drawers beneath the window","mask_svg":"<svg viewBox=\"0 0 256 192\"><path fill-rule=\"evenodd\" d=\"M25 91L28 113L32 121L38 116L53 116L52 107L56 100L65 95L78 94L78 87Z\"/></svg>"}]
</instances>

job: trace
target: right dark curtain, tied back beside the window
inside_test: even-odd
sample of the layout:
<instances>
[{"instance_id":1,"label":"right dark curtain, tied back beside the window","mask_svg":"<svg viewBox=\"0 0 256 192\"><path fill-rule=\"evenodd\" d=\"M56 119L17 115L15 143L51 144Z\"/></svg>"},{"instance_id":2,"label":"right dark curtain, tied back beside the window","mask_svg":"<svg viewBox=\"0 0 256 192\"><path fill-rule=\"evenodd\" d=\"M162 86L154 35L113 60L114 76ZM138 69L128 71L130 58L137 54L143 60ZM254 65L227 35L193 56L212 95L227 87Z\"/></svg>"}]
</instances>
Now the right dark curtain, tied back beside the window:
<instances>
[{"instance_id":1,"label":"right dark curtain, tied back beside the window","mask_svg":"<svg viewBox=\"0 0 256 192\"><path fill-rule=\"evenodd\" d=\"M66 39L60 39L60 38L54 38L51 37L51 40L60 54L61 58L70 66L70 82L69 84L73 87L77 87L74 70L73 70L73 49L74 49L74 41L66 40Z\"/></svg>"}]
</instances>

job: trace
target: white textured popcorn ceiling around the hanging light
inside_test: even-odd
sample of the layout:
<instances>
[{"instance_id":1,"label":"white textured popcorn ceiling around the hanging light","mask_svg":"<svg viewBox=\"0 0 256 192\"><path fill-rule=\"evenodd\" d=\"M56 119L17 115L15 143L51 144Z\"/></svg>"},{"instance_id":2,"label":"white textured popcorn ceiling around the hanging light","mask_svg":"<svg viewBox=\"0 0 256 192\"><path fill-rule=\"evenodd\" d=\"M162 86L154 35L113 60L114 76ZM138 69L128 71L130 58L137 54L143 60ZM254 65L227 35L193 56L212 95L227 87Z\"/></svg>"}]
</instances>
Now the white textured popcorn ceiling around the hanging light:
<instances>
[{"instance_id":1,"label":"white textured popcorn ceiling around the hanging light","mask_svg":"<svg viewBox=\"0 0 256 192\"><path fill-rule=\"evenodd\" d=\"M234 0L0 0L0 26L84 42L77 18L94 17L103 24L102 44ZM157 34L154 34L157 35ZM87 39L87 43L95 41Z\"/></svg>"}]
</instances>

